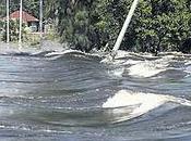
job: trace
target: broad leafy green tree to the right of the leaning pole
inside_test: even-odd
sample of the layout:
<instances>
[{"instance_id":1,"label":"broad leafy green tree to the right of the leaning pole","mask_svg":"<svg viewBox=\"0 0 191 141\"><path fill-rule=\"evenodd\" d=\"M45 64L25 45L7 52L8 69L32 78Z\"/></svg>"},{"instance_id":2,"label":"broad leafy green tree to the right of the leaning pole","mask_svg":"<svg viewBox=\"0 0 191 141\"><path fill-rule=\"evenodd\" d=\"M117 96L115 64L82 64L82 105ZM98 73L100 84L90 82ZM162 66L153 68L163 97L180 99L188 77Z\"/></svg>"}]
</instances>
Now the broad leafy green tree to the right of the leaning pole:
<instances>
[{"instance_id":1,"label":"broad leafy green tree to the right of the leaning pole","mask_svg":"<svg viewBox=\"0 0 191 141\"><path fill-rule=\"evenodd\" d=\"M187 1L141 1L136 18L136 40L142 51L178 51L190 36L191 14Z\"/></svg>"}]
</instances>

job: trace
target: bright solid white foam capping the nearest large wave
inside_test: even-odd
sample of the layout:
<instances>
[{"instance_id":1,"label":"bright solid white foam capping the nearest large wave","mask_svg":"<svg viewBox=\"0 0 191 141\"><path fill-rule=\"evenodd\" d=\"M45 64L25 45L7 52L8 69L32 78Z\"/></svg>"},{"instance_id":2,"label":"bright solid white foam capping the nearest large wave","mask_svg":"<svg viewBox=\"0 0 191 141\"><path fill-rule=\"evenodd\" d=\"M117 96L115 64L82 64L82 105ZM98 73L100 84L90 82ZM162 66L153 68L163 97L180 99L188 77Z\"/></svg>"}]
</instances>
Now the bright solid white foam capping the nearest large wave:
<instances>
[{"instance_id":1,"label":"bright solid white foam capping the nearest large wave","mask_svg":"<svg viewBox=\"0 0 191 141\"><path fill-rule=\"evenodd\" d=\"M167 95L142 92L133 93L127 90L120 90L112 98L109 98L103 104L103 107L122 107L140 104L141 107L139 107L139 111L147 112L151 108L162 105L167 100Z\"/></svg>"}]
</instances>

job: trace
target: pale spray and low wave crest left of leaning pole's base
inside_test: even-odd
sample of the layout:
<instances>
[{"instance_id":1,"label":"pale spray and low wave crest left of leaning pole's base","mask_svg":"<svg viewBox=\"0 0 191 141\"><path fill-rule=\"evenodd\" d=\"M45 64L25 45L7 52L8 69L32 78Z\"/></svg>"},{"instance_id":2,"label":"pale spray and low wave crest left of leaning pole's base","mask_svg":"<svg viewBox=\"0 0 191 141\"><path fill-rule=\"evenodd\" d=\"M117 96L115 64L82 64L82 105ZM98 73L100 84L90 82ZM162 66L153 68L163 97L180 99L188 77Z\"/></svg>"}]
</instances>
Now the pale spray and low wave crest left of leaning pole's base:
<instances>
[{"instance_id":1,"label":"pale spray and low wave crest left of leaning pole's base","mask_svg":"<svg viewBox=\"0 0 191 141\"><path fill-rule=\"evenodd\" d=\"M55 60L62 57L65 54L75 56L103 56L100 52L85 53L79 50L70 49L67 43L59 43L55 41L44 40L40 46L31 47L23 44L22 48L17 43L0 42L0 55L12 56L36 56L36 57L55 57Z\"/></svg>"}]
</instances>

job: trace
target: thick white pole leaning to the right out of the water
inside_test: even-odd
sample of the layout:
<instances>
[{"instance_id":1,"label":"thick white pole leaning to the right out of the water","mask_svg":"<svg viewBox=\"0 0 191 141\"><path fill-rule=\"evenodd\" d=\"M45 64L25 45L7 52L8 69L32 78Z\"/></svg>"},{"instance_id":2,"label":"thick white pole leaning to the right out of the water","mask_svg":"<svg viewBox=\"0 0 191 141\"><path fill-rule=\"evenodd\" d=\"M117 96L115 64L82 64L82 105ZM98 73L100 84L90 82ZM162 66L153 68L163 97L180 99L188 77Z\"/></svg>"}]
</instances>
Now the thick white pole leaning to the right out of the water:
<instances>
[{"instance_id":1,"label":"thick white pole leaning to the right out of the water","mask_svg":"<svg viewBox=\"0 0 191 141\"><path fill-rule=\"evenodd\" d=\"M129 14L128 14L128 16L126 18L126 22L124 22L124 24L122 26L122 29L121 29L121 31L120 31L120 34L118 36L118 39L117 39L117 41L115 43L112 52L116 52L117 50L119 50L119 47L121 46L122 39L123 39L124 34L126 34L126 31L128 29L128 26L129 26L129 24L131 22L131 18L132 18L132 16L134 14L134 10L136 9L138 3L139 3L139 0L134 0L133 1L132 5L131 5L131 9L129 11Z\"/></svg>"}]
</instances>

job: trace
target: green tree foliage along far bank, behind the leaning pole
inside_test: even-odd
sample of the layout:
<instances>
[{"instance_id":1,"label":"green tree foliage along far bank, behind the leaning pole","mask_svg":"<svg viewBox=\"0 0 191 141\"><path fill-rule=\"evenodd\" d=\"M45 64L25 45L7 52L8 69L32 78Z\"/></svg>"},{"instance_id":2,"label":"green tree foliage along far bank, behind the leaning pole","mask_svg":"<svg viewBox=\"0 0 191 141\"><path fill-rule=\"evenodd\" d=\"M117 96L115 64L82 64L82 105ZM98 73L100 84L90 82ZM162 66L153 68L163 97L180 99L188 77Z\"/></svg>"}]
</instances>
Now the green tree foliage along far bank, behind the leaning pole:
<instances>
[{"instance_id":1,"label":"green tree foliage along far bank, behind the leaning pole","mask_svg":"<svg viewBox=\"0 0 191 141\"><path fill-rule=\"evenodd\" d=\"M19 9L19 0L11 2L11 11ZM39 0L23 0L23 3L25 11L38 17ZM132 0L44 1L46 20L55 21L61 41L82 51L106 44L111 49L131 3ZM180 51L190 36L190 0L140 0L121 49Z\"/></svg>"}]
</instances>

